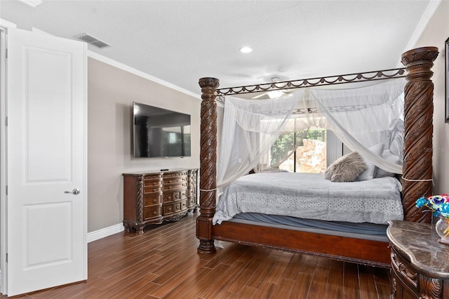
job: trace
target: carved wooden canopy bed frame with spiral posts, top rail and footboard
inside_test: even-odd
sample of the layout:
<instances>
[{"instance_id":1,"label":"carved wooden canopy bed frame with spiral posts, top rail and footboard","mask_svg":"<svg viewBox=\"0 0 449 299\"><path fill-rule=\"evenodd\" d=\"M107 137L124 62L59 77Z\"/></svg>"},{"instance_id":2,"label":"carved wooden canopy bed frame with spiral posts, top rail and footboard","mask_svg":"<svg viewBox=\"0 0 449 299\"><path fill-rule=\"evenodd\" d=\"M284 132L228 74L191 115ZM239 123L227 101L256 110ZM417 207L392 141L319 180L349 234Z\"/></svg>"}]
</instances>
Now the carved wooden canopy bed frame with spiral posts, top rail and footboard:
<instances>
[{"instance_id":1,"label":"carved wooden canopy bed frame with spiral posts, top rail and footboard","mask_svg":"<svg viewBox=\"0 0 449 299\"><path fill-rule=\"evenodd\" d=\"M404 88L404 161L402 203L404 220L430 222L430 213L420 213L415 207L417 198L432 194L432 117L434 84L431 81L431 67L438 56L438 48L415 48L403 53L401 62L406 67L407 84ZM357 74L360 81L377 80L385 76L384 71L367 77ZM351 74L353 75L353 74ZM212 225L215 213L216 196L216 162L217 162L217 94L251 93L258 91L301 88L316 85L342 84L352 82L344 79L348 75L285 81L279 84L257 86L239 86L222 88L218 79L201 78L199 85L202 91L201 102L201 168L200 168L200 215L196 219L196 237L199 239L199 253L214 253L214 239L232 241L251 246L277 248L285 251L320 255L351 263L390 267L390 250L387 242L337 237L327 234L286 230L261 225L248 225L224 221L221 225ZM404 77L395 75L396 77ZM382 79L389 79L385 76ZM311 82L321 82L312 84ZM300 82L300 83L298 83Z\"/></svg>"}]
</instances>

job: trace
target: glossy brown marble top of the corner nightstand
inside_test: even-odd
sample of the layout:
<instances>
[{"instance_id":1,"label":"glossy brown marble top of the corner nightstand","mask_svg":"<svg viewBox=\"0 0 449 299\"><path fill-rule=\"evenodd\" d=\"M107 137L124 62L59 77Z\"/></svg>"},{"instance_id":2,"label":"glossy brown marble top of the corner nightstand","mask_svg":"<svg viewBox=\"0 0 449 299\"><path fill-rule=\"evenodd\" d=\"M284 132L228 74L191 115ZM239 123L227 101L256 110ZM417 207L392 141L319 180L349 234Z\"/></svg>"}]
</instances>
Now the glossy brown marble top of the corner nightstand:
<instances>
[{"instance_id":1,"label":"glossy brown marble top of the corner nightstand","mask_svg":"<svg viewBox=\"0 0 449 299\"><path fill-rule=\"evenodd\" d=\"M392 220L387 237L415 270L429 277L449 278L449 246L438 243L435 225Z\"/></svg>"}]
</instances>

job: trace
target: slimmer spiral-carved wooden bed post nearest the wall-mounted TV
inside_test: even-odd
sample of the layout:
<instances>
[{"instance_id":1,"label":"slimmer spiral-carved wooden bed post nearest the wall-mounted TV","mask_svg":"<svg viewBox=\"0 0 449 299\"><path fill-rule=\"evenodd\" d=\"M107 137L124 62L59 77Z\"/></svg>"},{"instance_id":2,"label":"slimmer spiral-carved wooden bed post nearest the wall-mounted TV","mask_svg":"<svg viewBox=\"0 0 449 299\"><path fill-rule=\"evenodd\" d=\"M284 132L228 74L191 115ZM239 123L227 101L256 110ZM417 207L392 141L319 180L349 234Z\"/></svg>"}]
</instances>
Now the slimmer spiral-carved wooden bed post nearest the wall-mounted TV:
<instances>
[{"instance_id":1,"label":"slimmer spiral-carved wooden bed post nearest the wall-mounted TV","mask_svg":"<svg viewBox=\"0 0 449 299\"><path fill-rule=\"evenodd\" d=\"M201 86L201 152L200 152L200 215L196 218L196 237L199 253L216 251L212 236L212 218L215 214L217 188L217 102L215 91L220 81L199 79Z\"/></svg>"}]
</instances>

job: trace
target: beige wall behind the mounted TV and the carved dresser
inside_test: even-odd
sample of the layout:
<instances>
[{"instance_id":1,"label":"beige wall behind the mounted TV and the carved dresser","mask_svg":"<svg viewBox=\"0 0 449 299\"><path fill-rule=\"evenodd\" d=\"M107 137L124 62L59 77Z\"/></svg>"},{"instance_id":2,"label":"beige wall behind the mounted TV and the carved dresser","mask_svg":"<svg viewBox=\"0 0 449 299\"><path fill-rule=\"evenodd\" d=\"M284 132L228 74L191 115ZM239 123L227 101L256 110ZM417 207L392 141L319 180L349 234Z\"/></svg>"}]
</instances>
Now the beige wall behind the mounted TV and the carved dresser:
<instances>
[{"instance_id":1,"label":"beige wall behind the mounted TV and the carved dresser","mask_svg":"<svg viewBox=\"0 0 449 299\"><path fill-rule=\"evenodd\" d=\"M134 159L133 101L191 114L192 157ZM199 98L88 58L88 232L123 220L121 173L199 168L200 109Z\"/></svg>"}]
</instances>

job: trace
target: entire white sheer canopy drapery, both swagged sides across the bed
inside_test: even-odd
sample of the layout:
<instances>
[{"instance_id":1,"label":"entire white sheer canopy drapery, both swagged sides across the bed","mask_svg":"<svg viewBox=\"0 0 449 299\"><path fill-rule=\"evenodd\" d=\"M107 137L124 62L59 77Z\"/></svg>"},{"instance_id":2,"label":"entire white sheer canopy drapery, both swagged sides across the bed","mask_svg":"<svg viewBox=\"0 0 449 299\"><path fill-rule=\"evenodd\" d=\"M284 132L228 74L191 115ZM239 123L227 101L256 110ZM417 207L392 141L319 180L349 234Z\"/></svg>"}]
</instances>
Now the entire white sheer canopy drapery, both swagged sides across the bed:
<instances>
[{"instance_id":1,"label":"entire white sheer canopy drapery, both swagged sides across the bed","mask_svg":"<svg viewBox=\"0 0 449 299\"><path fill-rule=\"evenodd\" d=\"M269 100L227 96L217 187L255 168L269 154L279 134L292 128L330 128L347 147L376 166L402 173L405 83L405 79L394 79L361 88L300 88ZM311 107L319 107L319 112L308 113ZM299 108L307 113L293 113ZM380 143L383 152L369 150Z\"/></svg>"}]
</instances>

